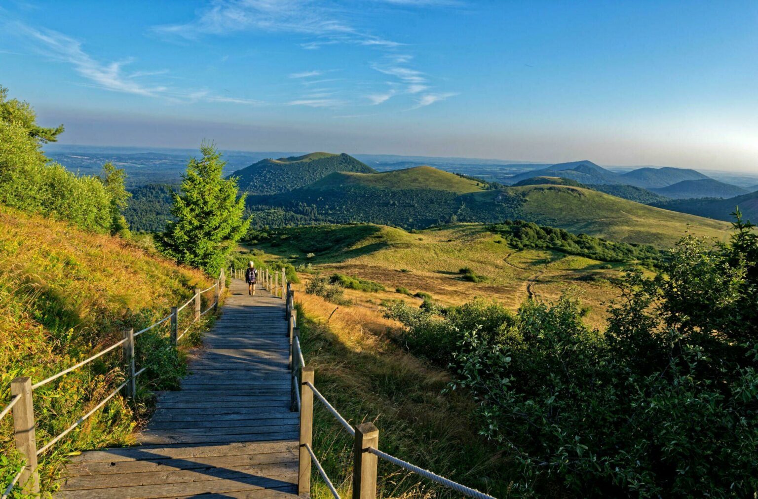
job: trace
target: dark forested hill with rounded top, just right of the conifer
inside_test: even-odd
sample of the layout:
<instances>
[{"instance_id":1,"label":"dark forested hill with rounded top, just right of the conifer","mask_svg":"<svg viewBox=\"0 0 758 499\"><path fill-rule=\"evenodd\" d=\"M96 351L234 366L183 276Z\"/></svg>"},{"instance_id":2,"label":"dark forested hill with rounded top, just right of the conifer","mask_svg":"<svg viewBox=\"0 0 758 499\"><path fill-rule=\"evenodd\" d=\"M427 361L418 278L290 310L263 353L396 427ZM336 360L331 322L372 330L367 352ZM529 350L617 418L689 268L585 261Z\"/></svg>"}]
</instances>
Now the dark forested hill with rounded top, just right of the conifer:
<instances>
[{"instance_id":1,"label":"dark forested hill with rounded top, just right of the conifer","mask_svg":"<svg viewBox=\"0 0 758 499\"><path fill-rule=\"evenodd\" d=\"M262 159L231 176L239 178L240 190L275 194L312 184L336 171L375 172L374 168L345 153L312 152L290 158Z\"/></svg>"}]
</instances>

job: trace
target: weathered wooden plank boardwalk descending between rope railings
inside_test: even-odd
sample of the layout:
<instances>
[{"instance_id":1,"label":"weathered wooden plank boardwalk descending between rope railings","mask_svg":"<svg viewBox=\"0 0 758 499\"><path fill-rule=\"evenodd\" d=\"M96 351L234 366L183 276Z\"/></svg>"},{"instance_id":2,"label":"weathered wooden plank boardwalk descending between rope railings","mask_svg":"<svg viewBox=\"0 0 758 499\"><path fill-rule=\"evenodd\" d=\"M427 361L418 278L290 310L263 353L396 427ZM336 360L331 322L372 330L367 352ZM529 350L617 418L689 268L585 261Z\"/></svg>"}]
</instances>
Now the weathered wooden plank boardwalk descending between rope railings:
<instances>
[{"instance_id":1,"label":"weathered wooden plank boardwalk descending between rope railings","mask_svg":"<svg viewBox=\"0 0 758 499\"><path fill-rule=\"evenodd\" d=\"M203 344L140 445L72 458L55 497L298 497L284 301L233 280Z\"/></svg>"}]
</instances>

